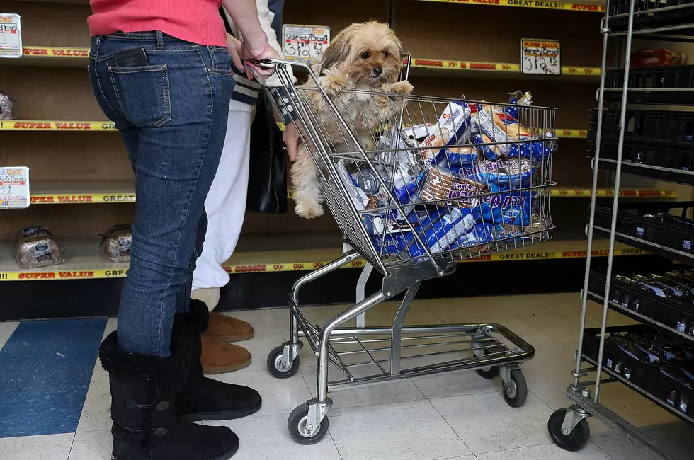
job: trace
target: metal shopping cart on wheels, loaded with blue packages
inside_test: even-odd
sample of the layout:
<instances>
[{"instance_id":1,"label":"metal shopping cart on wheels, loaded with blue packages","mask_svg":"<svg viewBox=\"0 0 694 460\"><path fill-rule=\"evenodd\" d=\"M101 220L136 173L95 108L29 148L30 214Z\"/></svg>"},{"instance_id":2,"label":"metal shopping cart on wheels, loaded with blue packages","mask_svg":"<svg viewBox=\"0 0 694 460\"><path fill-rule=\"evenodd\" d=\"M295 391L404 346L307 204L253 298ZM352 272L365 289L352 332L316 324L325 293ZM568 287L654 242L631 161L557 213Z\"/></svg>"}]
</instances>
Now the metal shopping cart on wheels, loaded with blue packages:
<instances>
[{"instance_id":1,"label":"metal shopping cart on wheels, loaded with blue packages","mask_svg":"<svg viewBox=\"0 0 694 460\"><path fill-rule=\"evenodd\" d=\"M290 415L292 437L314 444L326 435L329 391L460 369L487 379L501 374L504 398L522 406L528 390L518 365L535 350L518 335L494 323L403 323L423 280L450 275L462 260L552 237L556 110L365 91L329 97L322 88L293 84L289 66L318 81L305 64L263 65L273 65L282 83L275 109L297 113L324 201L346 242L340 258L295 282L290 340L268 355L277 378L299 369L300 337L317 356L316 397ZM382 275L381 289L313 326L300 309L300 289L359 258ZM341 327L403 292L392 325ZM432 361L440 357L447 360ZM343 378L328 381L329 367Z\"/></svg>"}]
</instances>

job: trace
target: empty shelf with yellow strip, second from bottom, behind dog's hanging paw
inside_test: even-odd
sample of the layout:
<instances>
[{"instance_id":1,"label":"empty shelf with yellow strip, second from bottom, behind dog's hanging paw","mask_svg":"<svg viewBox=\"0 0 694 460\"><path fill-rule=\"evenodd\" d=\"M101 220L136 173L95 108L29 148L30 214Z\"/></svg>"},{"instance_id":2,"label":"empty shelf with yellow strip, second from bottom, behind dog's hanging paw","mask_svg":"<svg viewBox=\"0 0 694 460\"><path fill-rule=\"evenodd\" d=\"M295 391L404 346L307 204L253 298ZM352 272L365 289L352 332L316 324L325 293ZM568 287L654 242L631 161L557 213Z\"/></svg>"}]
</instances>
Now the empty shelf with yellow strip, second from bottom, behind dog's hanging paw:
<instances>
[{"instance_id":1,"label":"empty shelf with yellow strip, second from bottom, behind dog's hanging paw","mask_svg":"<svg viewBox=\"0 0 694 460\"><path fill-rule=\"evenodd\" d=\"M587 198L591 196L588 188L553 187L550 196L556 198ZM598 189L598 198L614 196L611 188ZM294 191L288 190L292 199ZM673 190L621 190L620 197L632 200L653 198L675 199ZM32 205L92 205L107 203L135 202L135 183L122 182L33 182L31 183Z\"/></svg>"}]
</instances>

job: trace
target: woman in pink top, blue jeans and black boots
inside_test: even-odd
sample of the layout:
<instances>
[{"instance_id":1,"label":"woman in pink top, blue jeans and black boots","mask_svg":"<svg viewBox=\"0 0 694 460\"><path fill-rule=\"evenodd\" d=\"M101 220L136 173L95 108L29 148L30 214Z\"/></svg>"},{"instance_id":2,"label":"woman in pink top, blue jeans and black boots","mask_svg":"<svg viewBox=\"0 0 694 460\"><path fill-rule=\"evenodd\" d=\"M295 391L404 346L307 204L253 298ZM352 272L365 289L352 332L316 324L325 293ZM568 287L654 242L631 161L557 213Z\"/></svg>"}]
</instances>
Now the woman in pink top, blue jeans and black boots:
<instances>
[{"instance_id":1,"label":"woman in pink top, blue jeans and black boots","mask_svg":"<svg viewBox=\"0 0 694 460\"><path fill-rule=\"evenodd\" d=\"M110 376L112 460L229 459L236 435L192 422L261 406L253 389L203 377L207 307L190 301L205 197L227 130L232 59L243 69L239 58L277 57L254 1L223 0L242 41L227 35L220 3L91 0L91 84L123 137L137 193L118 332L99 351Z\"/></svg>"}]
</instances>

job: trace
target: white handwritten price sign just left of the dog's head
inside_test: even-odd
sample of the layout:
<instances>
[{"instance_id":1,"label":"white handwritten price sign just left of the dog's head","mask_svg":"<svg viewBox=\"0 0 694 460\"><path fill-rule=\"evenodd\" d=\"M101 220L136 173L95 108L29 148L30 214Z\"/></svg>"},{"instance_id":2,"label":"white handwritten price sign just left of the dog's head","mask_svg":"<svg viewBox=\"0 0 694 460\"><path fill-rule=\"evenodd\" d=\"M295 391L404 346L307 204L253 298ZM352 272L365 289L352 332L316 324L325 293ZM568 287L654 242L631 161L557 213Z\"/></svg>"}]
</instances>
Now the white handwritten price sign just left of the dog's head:
<instances>
[{"instance_id":1,"label":"white handwritten price sign just left of the dog's head","mask_svg":"<svg viewBox=\"0 0 694 460\"><path fill-rule=\"evenodd\" d=\"M282 26L282 52L290 61L318 62L330 45L330 28L323 25Z\"/></svg>"}]
</instances>

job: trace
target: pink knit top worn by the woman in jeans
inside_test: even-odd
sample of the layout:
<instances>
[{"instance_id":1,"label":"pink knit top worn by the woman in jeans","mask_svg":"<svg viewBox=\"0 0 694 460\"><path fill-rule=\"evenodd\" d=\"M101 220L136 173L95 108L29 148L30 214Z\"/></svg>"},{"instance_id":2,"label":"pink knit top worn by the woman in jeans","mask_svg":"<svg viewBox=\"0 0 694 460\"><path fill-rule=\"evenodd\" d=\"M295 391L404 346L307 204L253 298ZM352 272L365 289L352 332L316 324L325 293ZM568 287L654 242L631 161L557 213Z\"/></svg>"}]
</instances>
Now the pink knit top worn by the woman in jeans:
<instances>
[{"instance_id":1,"label":"pink knit top worn by the woman in jeans","mask_svg":"<svg viewBox=\"0 0 694 460\"><path fill-rule=\"evenodd\" d=\"M227 45L222 0L90 0L89 33L161 32L198 45Z\"/></svg>"}]
</instances>

